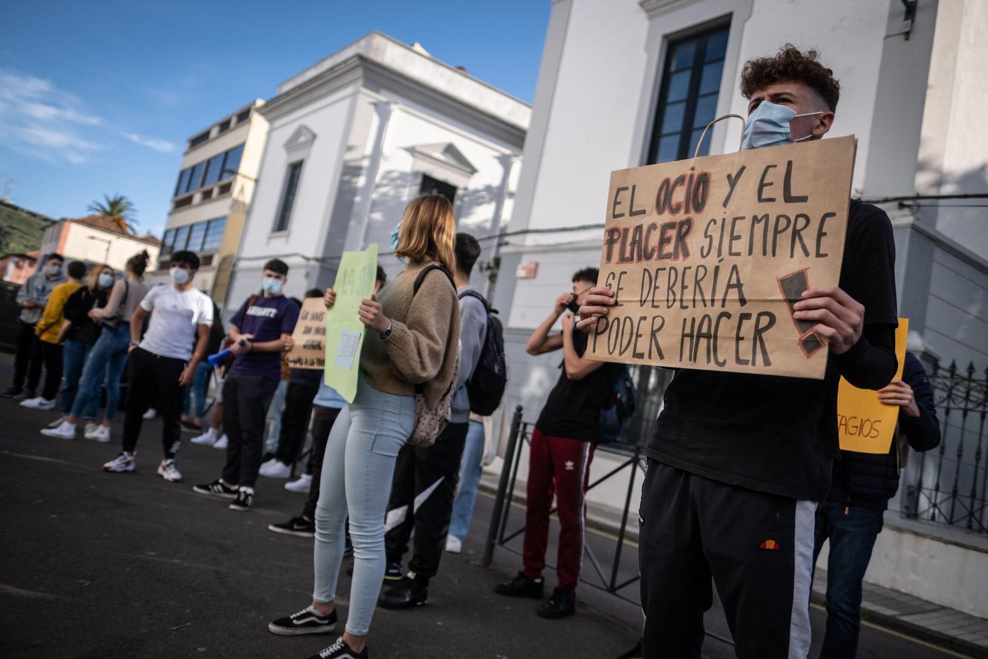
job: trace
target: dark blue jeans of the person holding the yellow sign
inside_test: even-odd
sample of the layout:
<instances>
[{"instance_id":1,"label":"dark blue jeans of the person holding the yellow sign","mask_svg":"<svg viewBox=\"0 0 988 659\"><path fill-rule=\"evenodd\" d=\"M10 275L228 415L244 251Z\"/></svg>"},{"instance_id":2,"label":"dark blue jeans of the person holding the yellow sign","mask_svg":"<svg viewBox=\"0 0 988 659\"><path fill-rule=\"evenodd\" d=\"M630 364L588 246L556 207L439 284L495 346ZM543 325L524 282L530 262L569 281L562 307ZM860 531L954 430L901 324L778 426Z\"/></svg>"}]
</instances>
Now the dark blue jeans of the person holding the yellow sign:
<instances>
[{"instance_id":1,"label":"dark blue jeans of the person holding the yellow sign","mask_svg":"<svg viewBox=\"0 0 988 659\"><path fill-rule=\"evenodd\" d=\"M847 511L845 513L845 511ZM883 511L822 502L816 509L813 564L825 540L827 558L827 631L820 659L854 659L862 623L862 580L881 531Z\"/></svg>"}]
</instances>

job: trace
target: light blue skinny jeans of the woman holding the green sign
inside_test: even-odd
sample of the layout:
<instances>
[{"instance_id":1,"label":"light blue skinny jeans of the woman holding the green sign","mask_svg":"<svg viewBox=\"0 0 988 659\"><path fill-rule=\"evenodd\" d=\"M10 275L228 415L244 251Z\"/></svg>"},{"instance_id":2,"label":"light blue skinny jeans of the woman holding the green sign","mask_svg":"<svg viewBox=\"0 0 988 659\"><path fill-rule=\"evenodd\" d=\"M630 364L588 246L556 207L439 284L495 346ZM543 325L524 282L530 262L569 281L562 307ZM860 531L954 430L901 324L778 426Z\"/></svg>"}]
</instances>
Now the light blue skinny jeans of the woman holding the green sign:
<instances>
[{"instance_id":1,"label":"light blue skinny jeans of the woman holding the green sign","mask_svg":"<svg viewBox=\"0 0 988 659\"><path fill-rule=\"evenodd\" d=\"M349 513L354 577L347 631L355 636L371 627L384 580L384 513L394 461L414 429L415 397L377 391L362 376L354 402L340 412L326 441L315 508L312 599L336 598Z\"/></svg>"}]
</instances>

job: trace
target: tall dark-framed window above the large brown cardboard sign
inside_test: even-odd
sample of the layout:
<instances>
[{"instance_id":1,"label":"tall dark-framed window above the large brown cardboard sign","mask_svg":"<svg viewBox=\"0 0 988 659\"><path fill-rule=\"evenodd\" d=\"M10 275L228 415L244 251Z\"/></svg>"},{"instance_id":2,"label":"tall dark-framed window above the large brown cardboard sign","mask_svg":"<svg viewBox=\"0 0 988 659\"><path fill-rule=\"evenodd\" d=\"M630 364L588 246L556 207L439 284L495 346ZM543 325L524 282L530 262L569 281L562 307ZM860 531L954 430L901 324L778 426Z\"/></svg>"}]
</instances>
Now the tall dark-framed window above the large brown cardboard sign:
<instances>
[{"instance_id":1,"label":"tall dark-framed window above the large brown cardboard sign","mask_svg":"<svg viewBox=\"0 0 988 659\"><path fill-rule=\"evenodd\" d=\"M648 164L693 157L697 141L717 109L724 72L727 27L719 27L669 44ZM709 141L700 155L709 152Z\"/></svg>"}]
</instances>

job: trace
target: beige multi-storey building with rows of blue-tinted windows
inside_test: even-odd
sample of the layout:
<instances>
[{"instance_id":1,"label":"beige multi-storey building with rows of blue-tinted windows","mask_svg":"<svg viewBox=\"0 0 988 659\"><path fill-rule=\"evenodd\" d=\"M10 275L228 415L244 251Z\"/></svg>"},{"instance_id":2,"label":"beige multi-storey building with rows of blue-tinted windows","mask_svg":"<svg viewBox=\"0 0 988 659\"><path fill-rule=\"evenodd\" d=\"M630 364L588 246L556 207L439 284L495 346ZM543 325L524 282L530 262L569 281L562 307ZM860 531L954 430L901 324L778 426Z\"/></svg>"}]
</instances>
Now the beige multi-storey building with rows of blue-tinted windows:
<instances>
[{"instance_id":1,"label":"beige multi-storey building with rows of blue-tinted windows","mask_svg":"<svg viewBox=\"0 0 988 659\"><path fill-rule=\"evenodd\" d=\"M268 135L263 105L256 100L186 141L153 283L168 280L169 254L189 249L201 262L196 285L225 298Z\"/></svg>"}]
</instances>

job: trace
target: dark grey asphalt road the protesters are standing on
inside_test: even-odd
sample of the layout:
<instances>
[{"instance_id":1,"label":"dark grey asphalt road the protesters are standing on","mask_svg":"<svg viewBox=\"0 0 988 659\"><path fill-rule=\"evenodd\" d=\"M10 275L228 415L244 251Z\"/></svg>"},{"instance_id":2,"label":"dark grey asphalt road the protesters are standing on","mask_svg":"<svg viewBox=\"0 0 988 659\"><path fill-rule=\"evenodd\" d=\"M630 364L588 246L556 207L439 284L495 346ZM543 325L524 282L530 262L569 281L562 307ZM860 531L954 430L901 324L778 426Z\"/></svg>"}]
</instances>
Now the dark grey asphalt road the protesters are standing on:
<instances>
[{"instance_id":1,"label":"dark grey asphalt road the protesters are standing on","mask_svg":"<svg viewBox=\"0 0 988 659\"><path fill-rule=\"evenodd\" d=\"M11 362L0 355L0 383ZM301 659L333 640L267 631L273 617L310 601L312 541L267 530L296 515L302 495L262 478L247 514L196 495L192 485L215 478L223 454L188 444L188 433L178 458L185 482L166 483L154 473L157 421L145 424L136 472L107 474L100 467L118 452L119 434L111 444L51 439L38 429L52 418L0 400L0 657ZM520 559L499 549L494 566L479 565L491 501L479 497L477 506L465 551L444 555L429 604L375 612L372 656L596 659L633 644L640 612L595 589L581 588L578 614L559 621L535 616L533 601L495 596L494 584ZM606 560L612 542L599 535L590 541ZM622 573L633 573L634 560L634 550L626 551ZM349 586L344 572L341 620ZM823 619L814 611L816 644ZM707 626L729 636L717 609ZM703 655L733 651L710 638ZM859 656L956 655L867 627Z\"/></svg>"}]
</instances>

